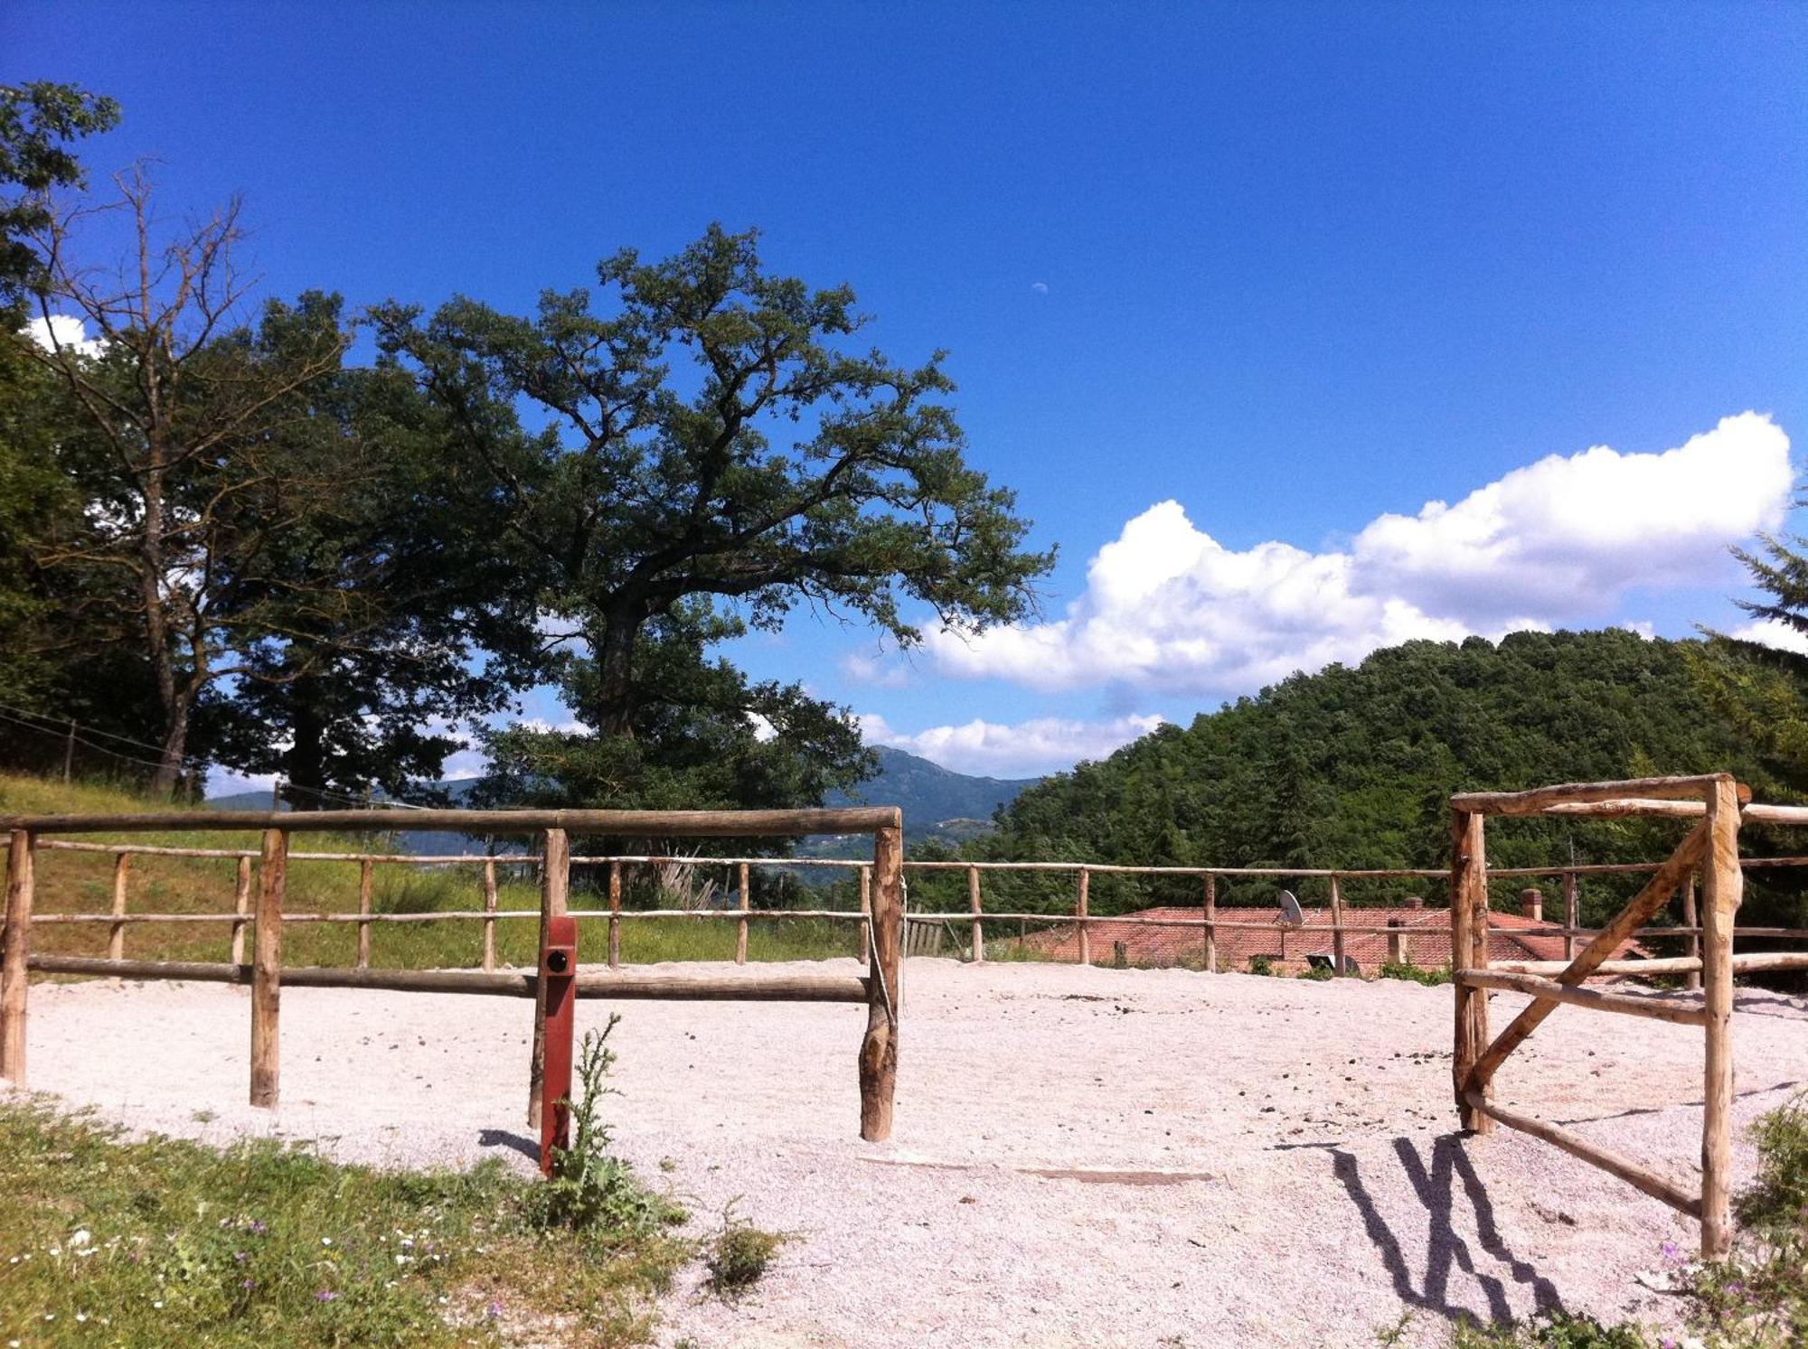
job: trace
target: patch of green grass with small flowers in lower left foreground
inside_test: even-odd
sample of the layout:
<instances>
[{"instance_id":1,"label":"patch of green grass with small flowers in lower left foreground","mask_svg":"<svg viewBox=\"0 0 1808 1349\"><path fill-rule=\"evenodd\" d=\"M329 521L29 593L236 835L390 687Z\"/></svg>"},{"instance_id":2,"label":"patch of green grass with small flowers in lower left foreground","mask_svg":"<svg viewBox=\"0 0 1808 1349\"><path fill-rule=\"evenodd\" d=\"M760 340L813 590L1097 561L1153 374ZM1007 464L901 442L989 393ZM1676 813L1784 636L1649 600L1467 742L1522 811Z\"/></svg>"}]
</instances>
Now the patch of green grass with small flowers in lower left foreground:
<instances>
[{"instance_id":1,"label":"patch of green grass with small flowers in lower left foreground","mask_svg":"<svg viewBox=\"0 0 1808 1349\"><path fill-rule=\"evenodd\" d=\"M378 1172L0 1107L0 1342L645 1344L694 1242L548 1228L499 1163Z\"/></svg>"}]
</instances>

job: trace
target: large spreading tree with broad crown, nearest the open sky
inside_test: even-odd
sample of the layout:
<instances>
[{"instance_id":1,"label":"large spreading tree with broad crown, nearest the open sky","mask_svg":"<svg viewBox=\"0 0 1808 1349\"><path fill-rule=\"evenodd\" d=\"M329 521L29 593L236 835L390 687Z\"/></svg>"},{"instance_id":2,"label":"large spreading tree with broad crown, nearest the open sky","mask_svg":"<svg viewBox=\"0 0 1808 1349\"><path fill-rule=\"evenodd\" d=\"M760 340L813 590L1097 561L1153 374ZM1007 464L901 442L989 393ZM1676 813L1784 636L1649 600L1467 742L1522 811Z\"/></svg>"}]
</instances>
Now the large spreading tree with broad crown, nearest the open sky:
<instances>
[{"instance_id":1,"label":"large spreading tree with broad crown, nearest the open sky","mask_svg":"<svg viewBox=\"0 0 1808 1349\"><path fill-rule=\"evenodd\" d=\"M711 651L799 604L902 646L924 608L976 631L1031 608L1052 553L967 467L940 356L855 344L846 286L770 275L712 226L664 262L617 253L598 286L512 316L385 306L385 360L459 416L448 503L559 620L553 671L591 731L492 741L490 799L803 805L871 770L846 709L752 684ZM528 430L517 407L535 427ZM776 738L761 740L768 723Z\"/></svg>"}]
</instances>

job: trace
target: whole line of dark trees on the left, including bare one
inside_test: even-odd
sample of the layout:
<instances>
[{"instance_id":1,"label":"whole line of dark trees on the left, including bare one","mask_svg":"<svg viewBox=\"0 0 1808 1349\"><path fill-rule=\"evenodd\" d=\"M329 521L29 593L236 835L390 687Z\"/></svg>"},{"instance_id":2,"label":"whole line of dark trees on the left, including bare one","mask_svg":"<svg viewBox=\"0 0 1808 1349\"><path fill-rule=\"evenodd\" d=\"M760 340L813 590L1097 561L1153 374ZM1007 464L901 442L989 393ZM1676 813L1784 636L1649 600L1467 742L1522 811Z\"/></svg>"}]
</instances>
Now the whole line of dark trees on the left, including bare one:
<instances>
[{"instance_id":1,"label":"whole line of dark trees on the left, including bare one","mask_svg":"<svg viewBox=\"0 0 1808 1349\"><path fill-rule=\"evenodd\" d=\"M866 345L756 231L526 315L269 297L240 203L172 226L143 168L85 179L119 118L0 89L0 705L155 745L154 790L418 794L474 732L497 803L814 803L870 772L848 709L723 642L1031 611L1052 555L967 463L942 354ZM494 729L542 684L573 729Z\"/></svg>"}]
</instances>

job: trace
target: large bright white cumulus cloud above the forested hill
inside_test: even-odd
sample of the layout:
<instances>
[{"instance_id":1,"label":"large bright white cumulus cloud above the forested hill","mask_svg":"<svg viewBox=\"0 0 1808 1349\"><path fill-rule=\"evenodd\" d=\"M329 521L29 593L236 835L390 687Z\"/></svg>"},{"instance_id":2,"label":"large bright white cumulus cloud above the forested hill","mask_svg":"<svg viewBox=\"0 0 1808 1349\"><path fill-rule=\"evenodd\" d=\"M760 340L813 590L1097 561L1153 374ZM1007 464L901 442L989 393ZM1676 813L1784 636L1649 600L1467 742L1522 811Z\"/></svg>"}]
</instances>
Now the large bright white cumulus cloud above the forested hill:
<instances>
[{"instance_id":1,"label":"large bright white cumulus cloud above the forested hill","mask_svg":"<svg viewBox=\"0 0 1808 1349\"><path fill-rule=\"evenodd\" d=\"M1047 691L1253 693L1408 638L1598 622L1634 588L1712 584L1792 486L1788 436L1745 412L1662 454L1549 456L1325 552L1229 550L1163 501L1097 552L1065 618L928 646L947 673Z\"/></svg>"}]
</instances>

